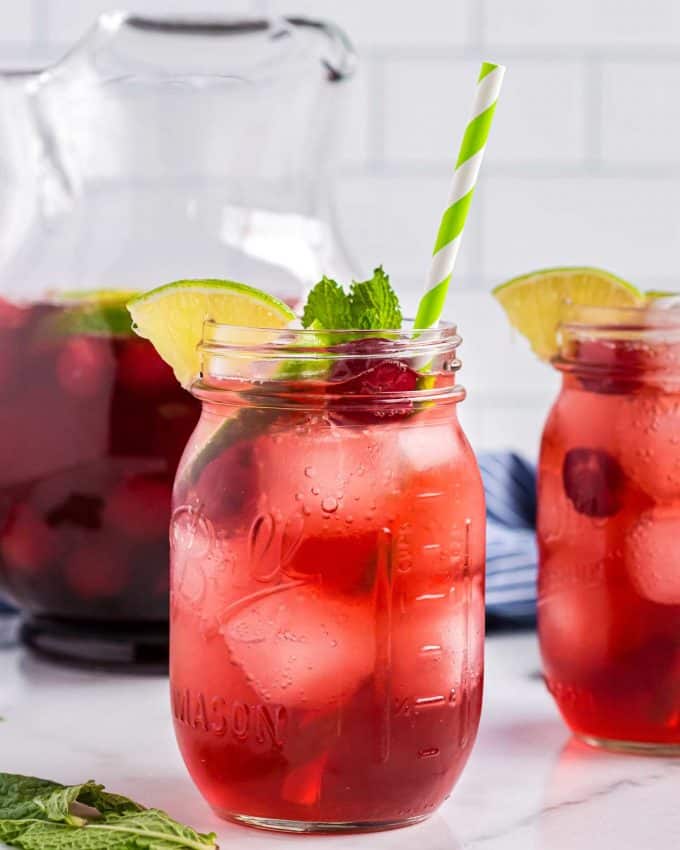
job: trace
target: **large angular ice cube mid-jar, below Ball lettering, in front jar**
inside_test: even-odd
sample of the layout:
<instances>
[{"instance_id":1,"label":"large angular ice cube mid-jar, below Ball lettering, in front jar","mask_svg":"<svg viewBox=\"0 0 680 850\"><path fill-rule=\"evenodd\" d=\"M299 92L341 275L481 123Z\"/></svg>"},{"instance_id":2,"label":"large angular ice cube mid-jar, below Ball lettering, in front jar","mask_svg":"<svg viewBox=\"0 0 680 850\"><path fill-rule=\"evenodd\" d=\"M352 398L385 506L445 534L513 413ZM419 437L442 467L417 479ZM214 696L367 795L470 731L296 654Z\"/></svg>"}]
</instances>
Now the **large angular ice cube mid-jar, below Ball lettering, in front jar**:
<instances>
[{"instance_id":1,"label":"large angular ice cube mid-jar, below Ball lettering, in front jar","mask_svg":"<svg viewBox=\"0 0 680 850\"><path fill-rule=\"evenodd\" d=\"M302 582L241 600L220 633L260 697L286 706L327 710L350 697L375 663L372 607Z\"/></svg>"}]
</instances>

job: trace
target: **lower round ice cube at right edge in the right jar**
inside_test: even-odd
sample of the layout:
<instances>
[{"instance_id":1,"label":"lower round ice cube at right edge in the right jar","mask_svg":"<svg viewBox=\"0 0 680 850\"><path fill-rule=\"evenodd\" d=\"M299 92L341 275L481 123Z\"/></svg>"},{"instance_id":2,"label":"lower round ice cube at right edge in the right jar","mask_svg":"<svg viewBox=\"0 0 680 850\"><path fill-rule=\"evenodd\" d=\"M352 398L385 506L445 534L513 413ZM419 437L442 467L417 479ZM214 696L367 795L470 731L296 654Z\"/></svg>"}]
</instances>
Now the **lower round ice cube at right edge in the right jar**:
<instances>
[{"instance_id":1,"label":"lower round ice cube at right edge in the right jar","mask_svg":"<svg viewBox=\"0 0 680 850\"><path fill-rule=\"evenodd\" d=\"M635 591L659 605L680 605L680 507L645 511L625 539Z\"/></svg>"}]
</instances>

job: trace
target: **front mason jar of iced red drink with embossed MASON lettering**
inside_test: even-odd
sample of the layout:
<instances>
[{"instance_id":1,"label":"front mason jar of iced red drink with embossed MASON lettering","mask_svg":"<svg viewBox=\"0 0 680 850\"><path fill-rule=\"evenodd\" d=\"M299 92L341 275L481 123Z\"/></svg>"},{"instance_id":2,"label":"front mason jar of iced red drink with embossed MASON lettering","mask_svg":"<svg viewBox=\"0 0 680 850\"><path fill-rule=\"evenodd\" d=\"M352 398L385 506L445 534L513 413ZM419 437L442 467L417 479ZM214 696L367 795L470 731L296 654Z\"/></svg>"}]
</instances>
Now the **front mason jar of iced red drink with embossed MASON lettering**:
<instances>
[{"instance_id":1,"label":"front mason jar of iced red drink with embossed MASON lettering","mask_svg":"<svg viewBox=\"0 0 680 850\"><path fill-rule=\"evenodd\" d=\"M174 490L182 755L214 810L250 825L421 820L463 769L482 698L484 496L456 413L460 339L246 335L206 324Z\"/></svg>"}]
</instances>

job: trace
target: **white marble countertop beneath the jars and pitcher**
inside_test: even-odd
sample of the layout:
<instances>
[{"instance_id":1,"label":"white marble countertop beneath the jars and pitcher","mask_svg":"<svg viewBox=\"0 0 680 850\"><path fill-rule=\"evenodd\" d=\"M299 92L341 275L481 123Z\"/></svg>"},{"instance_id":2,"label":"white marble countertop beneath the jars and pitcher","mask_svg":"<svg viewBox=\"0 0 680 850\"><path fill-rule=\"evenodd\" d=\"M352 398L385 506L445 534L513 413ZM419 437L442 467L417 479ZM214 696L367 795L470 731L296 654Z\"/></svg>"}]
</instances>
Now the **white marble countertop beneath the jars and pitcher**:
<instances>
[{"instance_id":1,"label":"white marble countertop beneath the jars and pitcher","mask_svg":"<svg viewBox=\"0 0 680 850\"><path fill-rule=\"evenodd\" d=\"M538 678L532 634L487 642L482 725L463 778L424 824L295 837L218 820L179 757L167 681L76 672L0 649L0 769L110 790L249 850L677 850L680 759L610 755L570 740ZM2 845L0 845L1 847Z\"/></svg>"}]
</instances>

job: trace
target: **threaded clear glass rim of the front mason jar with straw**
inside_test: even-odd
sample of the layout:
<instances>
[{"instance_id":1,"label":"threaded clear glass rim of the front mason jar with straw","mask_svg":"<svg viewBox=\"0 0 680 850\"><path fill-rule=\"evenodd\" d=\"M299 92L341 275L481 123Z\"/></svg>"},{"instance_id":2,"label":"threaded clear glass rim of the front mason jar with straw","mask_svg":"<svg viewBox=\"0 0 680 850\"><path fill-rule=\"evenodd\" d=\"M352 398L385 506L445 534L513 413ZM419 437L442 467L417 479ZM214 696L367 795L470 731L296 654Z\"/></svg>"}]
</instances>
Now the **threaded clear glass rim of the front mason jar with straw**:
<instances>
[{"instance_id":1,"label":"threaded clear glass rim of the front mason jar with straw","mask_svg":"<svg viewBox=\"0 0 680 850\"><path fill-rule=\"evenodd\" d=\"M275 396L279 402L289 396L296 405L309 401L316 406L324 398L346 395L354 397L353 406L362 403L359 396L367 404L460 400L464 390L455 382L460 342L452 322L427 330L416 329L411 319L399 329L325 331L206 320L198 347L200 378L192 391L203 397L245 388L251 396Z\"/></svg>"}]
</instances>

